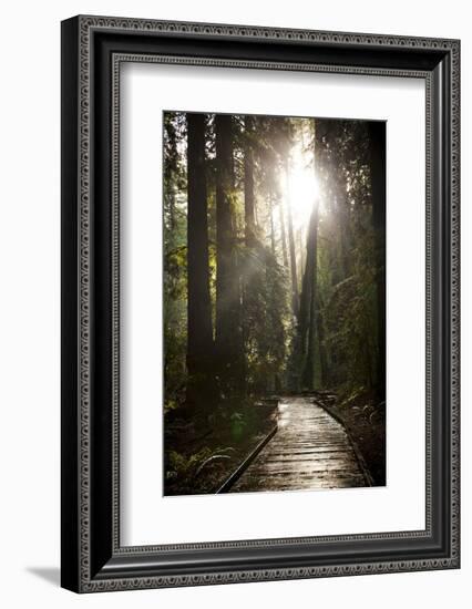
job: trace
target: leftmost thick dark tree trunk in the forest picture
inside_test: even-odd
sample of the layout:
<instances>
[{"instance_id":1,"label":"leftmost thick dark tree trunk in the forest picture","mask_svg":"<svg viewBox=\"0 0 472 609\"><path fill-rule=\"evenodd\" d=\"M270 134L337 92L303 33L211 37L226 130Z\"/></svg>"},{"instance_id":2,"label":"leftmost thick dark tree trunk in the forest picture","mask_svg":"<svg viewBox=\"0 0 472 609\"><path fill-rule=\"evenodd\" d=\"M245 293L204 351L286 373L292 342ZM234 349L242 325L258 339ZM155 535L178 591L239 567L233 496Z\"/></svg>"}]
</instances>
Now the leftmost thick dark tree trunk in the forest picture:
<instances>
[{"instance_id":1,"label":"leftmost thick dark tree trunk in the forest picture","mask_svg":"<svg viewBox=\"0 0 472 609\"><path fill-rule=\"evenodd\" d=\"M213 385L205 115L188 114L187 127L187 402L204 407Z\"/></svg>"}]
</instances>

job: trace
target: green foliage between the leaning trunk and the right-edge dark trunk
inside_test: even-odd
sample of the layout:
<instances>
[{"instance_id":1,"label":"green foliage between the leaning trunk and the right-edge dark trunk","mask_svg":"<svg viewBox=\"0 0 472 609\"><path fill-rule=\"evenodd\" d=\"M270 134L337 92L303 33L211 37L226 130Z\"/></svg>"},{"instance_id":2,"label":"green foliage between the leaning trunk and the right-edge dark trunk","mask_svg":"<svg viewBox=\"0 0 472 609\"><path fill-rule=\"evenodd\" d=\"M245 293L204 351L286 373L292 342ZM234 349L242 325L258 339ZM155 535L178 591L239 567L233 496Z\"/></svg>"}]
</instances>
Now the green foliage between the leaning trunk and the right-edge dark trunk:
<instances>
[{"instance_id":1,"label":"green foliage between the leaning trunk and the right-edge dark trunk","mask_svg":"<svg viewBox=\"0 0 472 609\"><path fill-rule=\"evenodd\" d=\"M355 125L352 131L359 128ZM367 153L363 145L357 152L351 149L358 142L350 134L336 151L338 179L343 176L346 190L336 200L332 184L325 183L335 197L331 213L338 211L320 226L319 287L325 327L321 347L329 357L328 384L341 392L370 391L379 365L378 316L382 312L378 311L377 278L384 272L383 250L379 250L379 236L372 225ZM335 153L328 151L326 156L332 162ZM339 183L336 188L339 190ZM338 225L336 218L340 220Z\"/></svg>"}]
</instances>

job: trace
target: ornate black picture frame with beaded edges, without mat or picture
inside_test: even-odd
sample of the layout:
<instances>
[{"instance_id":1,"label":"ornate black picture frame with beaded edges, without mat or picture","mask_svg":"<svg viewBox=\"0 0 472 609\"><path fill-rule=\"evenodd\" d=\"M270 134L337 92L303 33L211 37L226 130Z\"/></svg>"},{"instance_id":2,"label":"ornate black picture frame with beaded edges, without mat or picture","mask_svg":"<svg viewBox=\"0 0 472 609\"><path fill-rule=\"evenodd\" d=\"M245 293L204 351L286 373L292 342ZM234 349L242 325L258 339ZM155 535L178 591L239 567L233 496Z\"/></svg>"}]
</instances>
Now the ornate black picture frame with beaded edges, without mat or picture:
<instances>
[{"instance_id":1,"label":"ornate black picture frame with beaded edges, without mat or picture","mask_svg":"<svg viewBox=\"0 0 472 609\"><path fill-rule=\"evenodd\" d=\"M93 592L459 567L459 54L458 40L105 17L62 23L63 587ZM424 79L424 530L120 546L123 61Z\"/></svg>"}]
</instances>

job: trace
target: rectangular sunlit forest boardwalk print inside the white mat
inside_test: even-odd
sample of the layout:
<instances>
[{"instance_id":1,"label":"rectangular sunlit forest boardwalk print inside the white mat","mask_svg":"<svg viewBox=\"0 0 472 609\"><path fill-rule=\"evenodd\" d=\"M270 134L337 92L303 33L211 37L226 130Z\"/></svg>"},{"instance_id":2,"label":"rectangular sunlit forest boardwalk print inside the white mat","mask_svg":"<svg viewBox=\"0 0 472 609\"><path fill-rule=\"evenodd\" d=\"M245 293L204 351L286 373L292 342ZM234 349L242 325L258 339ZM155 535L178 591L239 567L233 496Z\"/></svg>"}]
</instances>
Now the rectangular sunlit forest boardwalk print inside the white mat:
<instances>
[{"instance_id":1,"label":"rectangular sunlit forest boardwalk print inside the white mat","mask_svg":"<svg viewBox=\"0 0 472 609\"><path fill-rule=\"evenodd\" d=\"M163 494L384 486L386 123L163 113Z\"/></svg>"}]
</instances>

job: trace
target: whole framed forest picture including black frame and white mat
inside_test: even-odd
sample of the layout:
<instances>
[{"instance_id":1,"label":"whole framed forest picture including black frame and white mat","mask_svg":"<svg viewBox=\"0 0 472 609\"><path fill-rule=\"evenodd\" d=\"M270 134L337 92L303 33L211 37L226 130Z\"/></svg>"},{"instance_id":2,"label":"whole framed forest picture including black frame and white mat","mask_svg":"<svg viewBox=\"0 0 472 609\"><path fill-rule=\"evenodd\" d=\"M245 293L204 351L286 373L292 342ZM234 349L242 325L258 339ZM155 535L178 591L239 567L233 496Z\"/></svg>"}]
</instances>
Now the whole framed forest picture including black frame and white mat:
<instances>
[{"instance_id":1,"label":"whole framed forest picture including black frame and white mat","mask_svg":"<svg viewBox=\"0 0 472 609\"><path fill-rule=\"evenodd\" d=\"M460 565L458 40L62 22L62 586Z\"/></svg>"}]
</instances>

